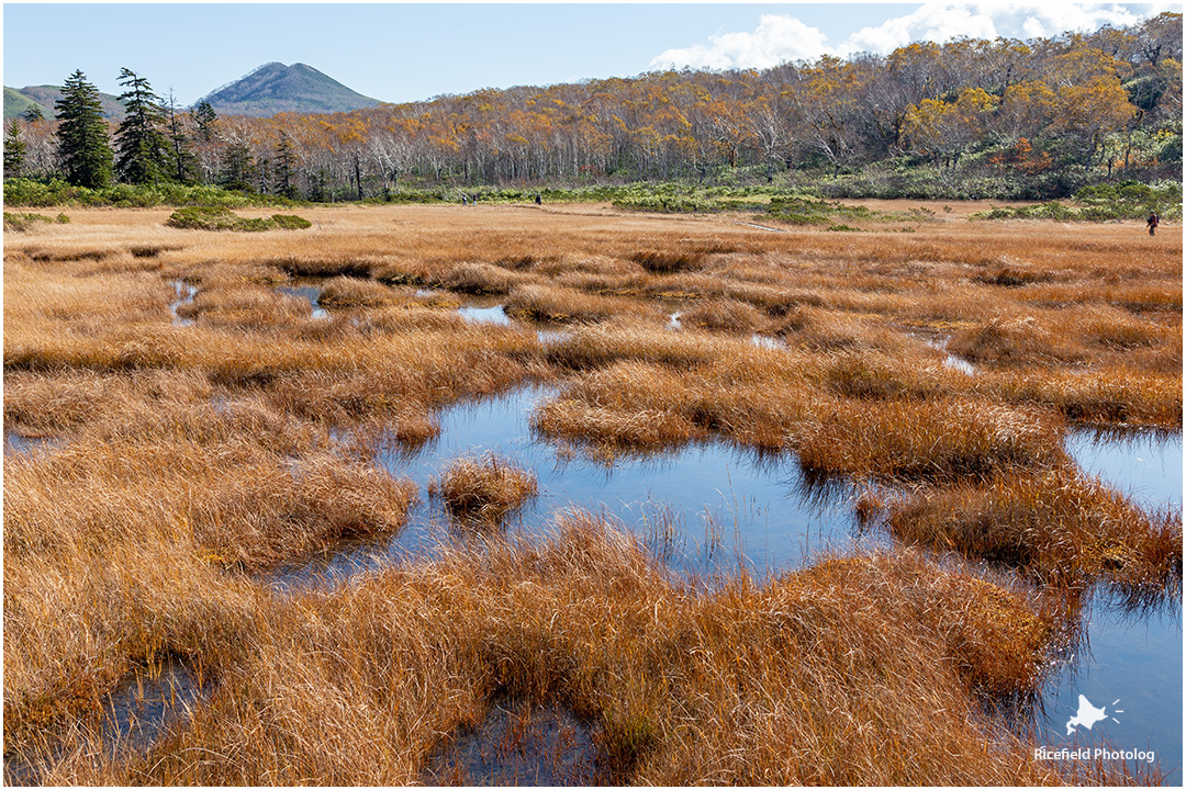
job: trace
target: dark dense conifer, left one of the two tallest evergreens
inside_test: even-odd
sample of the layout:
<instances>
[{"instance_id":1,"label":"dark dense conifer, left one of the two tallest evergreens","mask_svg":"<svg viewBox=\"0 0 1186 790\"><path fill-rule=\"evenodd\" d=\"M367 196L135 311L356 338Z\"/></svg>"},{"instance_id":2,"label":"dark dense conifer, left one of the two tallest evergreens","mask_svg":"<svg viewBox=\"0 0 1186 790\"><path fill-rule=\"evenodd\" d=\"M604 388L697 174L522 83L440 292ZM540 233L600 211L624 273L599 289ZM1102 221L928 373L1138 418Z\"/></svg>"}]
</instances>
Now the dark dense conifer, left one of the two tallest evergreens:
<instances>
[{"instance_id":1,"label":"dark dense conifer, left one of the two tallest evergreens","mask_svg":"<svg viewBox=\"0 0 1186 790\"><path fill-rule=\"evenodd\" d=\"M97 190L111 180L111 143L98 101L98 89L75 71L53 103L58 123L58 156L66 181Z\"/></svg>"}]
</instances>

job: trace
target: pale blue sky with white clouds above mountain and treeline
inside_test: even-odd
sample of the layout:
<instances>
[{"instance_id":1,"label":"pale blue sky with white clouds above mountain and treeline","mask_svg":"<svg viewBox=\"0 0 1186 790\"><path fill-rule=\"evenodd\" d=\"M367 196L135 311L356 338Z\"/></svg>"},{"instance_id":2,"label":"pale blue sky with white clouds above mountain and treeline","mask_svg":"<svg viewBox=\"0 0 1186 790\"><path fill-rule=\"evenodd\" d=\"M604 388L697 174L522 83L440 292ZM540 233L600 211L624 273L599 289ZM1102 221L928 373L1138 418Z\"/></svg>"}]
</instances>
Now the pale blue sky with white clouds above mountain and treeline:
<instances>
[{"instance_id":1,"label":"pale blue sky with white clouds above mountain and treeline","mask_svg":"<svg viewBox=\"0 0 1186 790\"><path fill-rule=\"evenodd\" d=\"M482 88L769 68L911 40L1032 38L1129 25L1181 4L5 4L4 84L127 66L192 104L272 60L408 102Z\"/></svg>"}]
</instances>

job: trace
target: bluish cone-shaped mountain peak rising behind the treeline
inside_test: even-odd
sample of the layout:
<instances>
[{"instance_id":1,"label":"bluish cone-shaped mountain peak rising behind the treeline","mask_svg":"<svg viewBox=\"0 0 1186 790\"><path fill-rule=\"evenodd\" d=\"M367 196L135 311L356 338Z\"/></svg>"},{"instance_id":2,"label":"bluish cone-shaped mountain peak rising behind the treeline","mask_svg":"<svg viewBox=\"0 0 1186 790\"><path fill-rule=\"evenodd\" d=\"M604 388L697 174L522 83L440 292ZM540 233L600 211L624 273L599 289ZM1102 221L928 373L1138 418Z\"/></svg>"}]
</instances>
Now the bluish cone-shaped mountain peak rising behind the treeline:
<instances>
[{"instance_id":1,"label":"bluish cone-shaped mountain peak rising behind the treeline","mask_svg":"<svg viewBox=\"0 0 1186 790\"><path fill-rule=\"evenodd\" d=\"M349 113L382 104L313 66L266 63L204 97L219 115L267 117L276 113Z\"/></svg>"}]
</instances>

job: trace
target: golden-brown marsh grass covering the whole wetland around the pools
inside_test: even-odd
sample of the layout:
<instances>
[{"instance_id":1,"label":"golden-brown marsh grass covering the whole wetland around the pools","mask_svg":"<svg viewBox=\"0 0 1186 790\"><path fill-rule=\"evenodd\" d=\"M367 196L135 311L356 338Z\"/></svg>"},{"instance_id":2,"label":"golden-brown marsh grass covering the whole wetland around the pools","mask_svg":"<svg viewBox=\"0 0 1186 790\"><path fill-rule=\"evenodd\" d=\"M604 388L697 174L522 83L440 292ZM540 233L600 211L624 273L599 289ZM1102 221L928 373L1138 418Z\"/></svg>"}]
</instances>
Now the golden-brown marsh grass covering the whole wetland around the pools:
<instances>
[{"instance_id":1,"label":"golden-brown marsh grass covering the whole wetland around the pools","mask_svg":"<svg viewBox=\"0 0 1186 790\"><path fill-rule=\"evenodd\" d=\"M6 779L464 781L451 744L492 728L580 782L1159 782L1035 760L994 711L1040 695L1093 598L1180 605L1180 494L1127 496L1069 436L1180 436L1181 238L984 208L911 233L876 212L772 233L353 206L213 232L75 210L9 235ZM774 458L876 540L697 567L478 437L417 470L451 407L528 387L557 464ZM427 500L480 528L269 583L398 539ZM113 737L161 667L184 714ZM540 715L559 724L533 736Z\"/></svg>"}]
</instances>

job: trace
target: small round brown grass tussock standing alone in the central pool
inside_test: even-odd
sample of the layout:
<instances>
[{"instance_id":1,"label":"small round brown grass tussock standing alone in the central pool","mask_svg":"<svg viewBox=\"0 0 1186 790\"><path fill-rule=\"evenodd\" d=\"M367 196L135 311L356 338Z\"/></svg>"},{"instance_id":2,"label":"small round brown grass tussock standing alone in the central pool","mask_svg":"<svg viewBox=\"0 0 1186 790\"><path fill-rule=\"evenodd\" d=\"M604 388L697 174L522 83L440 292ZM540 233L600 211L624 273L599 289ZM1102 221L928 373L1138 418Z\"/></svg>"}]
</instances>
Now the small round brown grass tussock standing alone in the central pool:
<instances>
[{"instance_id":1,"label":"small round brown grass tussock standing alone in the central pool","mask_svg":"<svg viewBox=\"0 0 1186 790\"><path fill-rule=\"evenodd\" d=\"M535 475L492 454L453 461L428 493L466 524L498 524L538 490Z\"/></svg>"}]
</instances>

